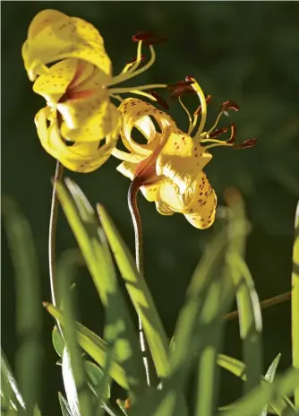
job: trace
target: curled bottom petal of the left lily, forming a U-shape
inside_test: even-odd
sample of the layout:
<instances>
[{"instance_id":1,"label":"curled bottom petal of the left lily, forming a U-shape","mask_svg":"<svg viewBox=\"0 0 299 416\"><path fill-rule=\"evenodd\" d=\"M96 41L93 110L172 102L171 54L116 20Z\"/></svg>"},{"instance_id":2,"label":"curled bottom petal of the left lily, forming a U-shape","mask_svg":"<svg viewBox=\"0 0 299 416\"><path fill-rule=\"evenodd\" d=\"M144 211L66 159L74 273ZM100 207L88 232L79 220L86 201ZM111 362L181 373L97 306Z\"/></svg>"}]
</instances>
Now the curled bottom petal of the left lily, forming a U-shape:
<instances>
[{"instance_id":1,"label":"curled bottom petal of the left lily, forming a U-shape","mask_svg":"<svg viewBox=\"0 0 299 416\"><path fill-rule=\"evenodd\" d=\"M35 122L38 137L44 149L67 169L75 172L88 173L98 169L111 155L116 138L109 136L107 143L98 148L99 143L74 143L67 146L59 134L56 120L47 128L49 109L38 111Z\"/></svg>"}]
</instances>

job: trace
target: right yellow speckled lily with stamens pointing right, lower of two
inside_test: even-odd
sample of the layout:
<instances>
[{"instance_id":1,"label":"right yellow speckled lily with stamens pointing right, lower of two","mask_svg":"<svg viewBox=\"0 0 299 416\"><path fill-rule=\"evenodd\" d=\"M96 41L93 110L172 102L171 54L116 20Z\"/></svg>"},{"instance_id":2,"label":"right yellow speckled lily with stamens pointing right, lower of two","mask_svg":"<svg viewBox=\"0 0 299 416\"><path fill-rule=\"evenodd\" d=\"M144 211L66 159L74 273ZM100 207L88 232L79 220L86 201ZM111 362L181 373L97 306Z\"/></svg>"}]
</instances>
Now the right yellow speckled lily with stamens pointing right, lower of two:
<instances>
[{"instance_id":1,"label":"right yellow speckled lily with stamens pointing right, lower of two","mask_svg":"<svg viewBox=\"0 0 299 416\"><path fill-rule=\"evenodd\" d=\"M218 120L208 132L203 132L206 99L194 79L190 78L188 83L201 100L201 123L193 138L191 133L199 111L193 121L189 115L190 127L188 134L185 134L163 111L141 100L127 99L122 102L119 110L123 119L121 138L129 152L114 149L113 154L124 160L117 170L128 178L140 178L142 194L148 201L156 203L159 213L183 213L194 227L203 230L214 222L217 206L217 195L202 171L212 158L208 149L221 144L249 147L253 143L247 141L243 145L235 145L235 126L232 126L231 137L225 143L214 139L215 135L225 131L215 130ZM225 104L220 115L232 108L230 103ZM133 140L134 127L144 136L145 143ZM206 142L213 144L205 146L203 143Z\"/></svg>"}]
</instances>

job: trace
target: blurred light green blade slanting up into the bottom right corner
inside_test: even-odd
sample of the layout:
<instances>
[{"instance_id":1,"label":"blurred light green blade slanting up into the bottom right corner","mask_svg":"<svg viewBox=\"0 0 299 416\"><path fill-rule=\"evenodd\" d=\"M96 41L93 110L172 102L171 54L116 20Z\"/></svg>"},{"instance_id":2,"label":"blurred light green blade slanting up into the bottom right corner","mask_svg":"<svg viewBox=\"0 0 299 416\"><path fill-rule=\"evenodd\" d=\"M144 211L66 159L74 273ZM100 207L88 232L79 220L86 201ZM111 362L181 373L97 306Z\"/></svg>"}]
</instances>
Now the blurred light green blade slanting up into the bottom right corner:
<instances>
[{"instance_id":1,"label":"blurred light green blade slanting up into the bottom right corner","mask_svg":"<svg viewBox=\"0 0 299 416\"><path fill-rule=\"evenodd\" d=\"M260 414L263 407L275 402L278 396L289 396L299 386L299 370L290 368L272 383L262 383L235 403L234 409L221 413L222 416L252 416Z\"/></svg>"}]
</instances>

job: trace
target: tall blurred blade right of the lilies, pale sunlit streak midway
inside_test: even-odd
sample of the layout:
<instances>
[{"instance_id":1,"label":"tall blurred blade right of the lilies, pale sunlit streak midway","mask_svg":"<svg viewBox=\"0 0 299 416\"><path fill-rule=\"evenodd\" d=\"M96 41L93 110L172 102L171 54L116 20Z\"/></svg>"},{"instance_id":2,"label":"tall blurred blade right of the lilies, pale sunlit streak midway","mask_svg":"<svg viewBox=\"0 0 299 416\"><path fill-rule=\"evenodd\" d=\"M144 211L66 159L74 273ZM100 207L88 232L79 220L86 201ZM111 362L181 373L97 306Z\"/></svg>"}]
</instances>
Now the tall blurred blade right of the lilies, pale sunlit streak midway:
<instances>
[{"instance_id":1,"label":"tall blurred blade right of the lilies, pale sunlit streak midway","mask_svg":"<svg viewBox=\"0 0 299 416\"><path fill-rule=\"evenodd\" d=\"M244 391L247 393L260 384L262 374L261 308L251 273L243 260L245 241L242 236L247 229L243 200L234 189L226 193L226 200L230 208L231 241L226 262L236 290L243 361L247 368Z\"/></svg>"}]
</instances>

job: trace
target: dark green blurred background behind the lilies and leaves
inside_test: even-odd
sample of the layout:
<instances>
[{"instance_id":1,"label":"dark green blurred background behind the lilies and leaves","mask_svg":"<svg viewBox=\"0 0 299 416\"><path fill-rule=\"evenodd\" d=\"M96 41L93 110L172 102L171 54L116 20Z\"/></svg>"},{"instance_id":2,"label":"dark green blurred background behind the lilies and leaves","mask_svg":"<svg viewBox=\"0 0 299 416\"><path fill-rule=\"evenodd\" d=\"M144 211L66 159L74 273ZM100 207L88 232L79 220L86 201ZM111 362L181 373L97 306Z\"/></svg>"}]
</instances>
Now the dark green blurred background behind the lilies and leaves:
<instances>
[{"instance_id":1,"label":"dark green blurred background behind the lilies and leaves","mask_svg":"<svg viewBox=\"0 0 299 416\"><path fill-rule=\"evenodd\" d=\"M32 91L21 60L21 45L38 11L55 8L92 22L103 35L117 74L136 53L132 34L151 30L166 35L158 45L157 62L130 85L176 82L192 74L213 96L209 123L225 100L241 107L233 117L239 140L257 137L246 151L219 148L207 169L221 203L229 186L243 194L252 222L247 260L261 299L290 289L296 199L299 195L299 4L296 2L2 2L2 193L12 195L32 227L38 250L43 299L50 299L47 275L47 227L50 178L55 160L43 151L33 118L43 99ZM167 97L167 95L164 95ZM193 102L193 101L191 101ZM196 104L195 104L196 105ZM171 108L186 128L184 113ZM133 251L133 233L126 205L127 178L115 171L117 160L89 175L67 173L90 201L107 207ZM211 230L195 230L183 215L163 217L154 204L140 200L145 235L146 278L158 311L172 334L192 271ZM75 247L63 215L58 225L59 253ZM13 365L18 346L14 327L13 268L6 239L2 245L2 345ZM78 281L81 316L100 333L102 314L88 273ZM278 352L280 369L291 362L290 304L263 313L265 370ZM44 362L42 411L57 414L56 391L62 389L60 368L51 345L53 320L43 312ZM226 352L241 358L236 322L227 324ZM222 403L239 391L226 376Z\"/></svg>"}]
</instances>

